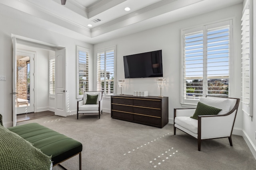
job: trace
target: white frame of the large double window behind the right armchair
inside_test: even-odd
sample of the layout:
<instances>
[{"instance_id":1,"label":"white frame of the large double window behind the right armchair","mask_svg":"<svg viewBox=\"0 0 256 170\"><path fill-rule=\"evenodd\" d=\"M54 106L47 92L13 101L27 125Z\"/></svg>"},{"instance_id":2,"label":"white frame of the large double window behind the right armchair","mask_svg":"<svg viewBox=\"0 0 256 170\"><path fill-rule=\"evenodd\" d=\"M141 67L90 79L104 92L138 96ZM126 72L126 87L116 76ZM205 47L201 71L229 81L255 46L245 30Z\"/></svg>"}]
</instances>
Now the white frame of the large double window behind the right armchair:
<instances>
[{"instance_id":1,"label":"white frame of the large double window behind the right armchair","mask_svg":"<svg viewBox=\"0 0 256 170\"><path fill-rule=\"evenodd\" d=\"M207 81L207 70L206 70L206 67L207 67L207 63L206 63L206 57L207 57L207 33L208 33L208 29L214 29L214 28L217 28L217 27L220 27L220 26L224 26L226 25L226 23L229 24L229 28L230 28L230 32L229 32L229 35L230 35L230 38L229 38L229 41L230 41L230 45L229 45L229 85L228 85L228 96L232 96L233 94L233 75L234 75L234 69L233 69L233 64L231 64L233 61L234 61L234 41L233 41L233 20L230 19L230 20L222 20L222 21L216 21L214 23L208 23L208 24L203 24L203 25L200 25L198 27L193 27L193 28L187 28L187 29L181 29L181 69L180 69L180 72L181 72L181 79L180 79L180 83L182 84L181 86L181 89L180 89L180 93L181 93L181 98L180 98L180 103L182 104L182 107L191 107L191 106L196 106L196 104L198 103L199 101L199 98L191 98L191 99L186 99L184 96L184 90L186 90L185 88L185 84L186 84L186 79L185 79L185 76L184 76L184 61L185 61L185 34L189 34L189 33L195 33L195 32L200 32L202 31L202 37L203 37L203 73L202 73L202 80L203 80L203 84L202 84L202 96L206 96L206 95L209 95L207 94L207 87L208 87L208 81ZM205 81L206 80L206 81Z\"/></svg>"}]
</instances>

